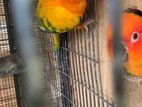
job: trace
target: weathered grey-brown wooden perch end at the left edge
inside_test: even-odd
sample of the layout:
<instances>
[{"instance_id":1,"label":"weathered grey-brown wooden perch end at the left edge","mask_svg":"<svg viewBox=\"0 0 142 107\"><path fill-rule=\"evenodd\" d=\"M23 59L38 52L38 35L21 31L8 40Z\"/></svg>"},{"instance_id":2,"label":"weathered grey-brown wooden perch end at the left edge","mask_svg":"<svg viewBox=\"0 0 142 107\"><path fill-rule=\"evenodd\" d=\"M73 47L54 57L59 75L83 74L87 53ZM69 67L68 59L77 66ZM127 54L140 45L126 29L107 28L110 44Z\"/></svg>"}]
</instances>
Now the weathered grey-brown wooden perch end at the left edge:
<instances>
[{"instance_id":1,"label":"weathered grey-brown wooden perch end at the left edge","mask_svg":"<svg viewBox=\"0 0 142 107\"><path fill-rule=\"evenodd\" d=\"M24 70L21 57L17 54L11 54L6 57L0 57L0 77L3 75L12 75Z\"/></svg>"}]
</instances>

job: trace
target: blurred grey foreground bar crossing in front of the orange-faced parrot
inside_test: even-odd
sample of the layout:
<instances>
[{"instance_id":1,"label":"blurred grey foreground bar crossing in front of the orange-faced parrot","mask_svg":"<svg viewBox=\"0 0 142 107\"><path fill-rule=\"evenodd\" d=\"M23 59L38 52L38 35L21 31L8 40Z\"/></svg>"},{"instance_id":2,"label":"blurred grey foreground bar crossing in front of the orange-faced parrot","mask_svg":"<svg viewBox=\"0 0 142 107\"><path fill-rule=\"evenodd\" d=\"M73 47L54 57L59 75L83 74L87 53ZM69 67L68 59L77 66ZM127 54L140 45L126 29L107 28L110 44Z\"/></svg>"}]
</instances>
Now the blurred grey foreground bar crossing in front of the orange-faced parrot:
<instances>
[{"instance_id":1,"label":"blurred grey foreground bar crossing in front of the orange-faced parrot","mask_svg":"<svg viewBox=\"0 0 142 107\"><path fill-rule=\"evenodd\" d=\"M114 52L114 95L116 107L126 107L124 99L122 47L120 37L120 14L121 0L109 0L108 6L111 12L111 23L113 28L113 52Z\"/></svg>"}]
</instances>

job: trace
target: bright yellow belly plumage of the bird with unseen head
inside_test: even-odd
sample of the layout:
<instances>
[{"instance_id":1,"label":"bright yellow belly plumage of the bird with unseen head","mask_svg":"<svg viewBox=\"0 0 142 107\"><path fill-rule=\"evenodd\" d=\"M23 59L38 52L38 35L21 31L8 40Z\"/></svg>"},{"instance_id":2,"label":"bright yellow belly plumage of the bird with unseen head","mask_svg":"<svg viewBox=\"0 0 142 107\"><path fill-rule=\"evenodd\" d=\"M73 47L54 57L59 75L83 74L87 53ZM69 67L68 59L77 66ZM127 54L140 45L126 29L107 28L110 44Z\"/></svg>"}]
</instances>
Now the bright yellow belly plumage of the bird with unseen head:
<instances>
[{"instance_id":1,"label":"bright yellow belly plumage of the bird with unseen head","mask_svg":"<svg viewBox=\"0 0 142 107\"><path fill-rule=\"evenodd\" d=\"M80 17L67 11L61 6L54 7L52 9L41 8L38 11L38 17L43 19L43 23L48 28L49 23L54 27L58 33L67 32L73 29L80 23ZM47 21L49 23L47 23ZM50 30L50 29L48 29ZM52 30L51 30L52 31Z\"/></svg>"}]
</instances>

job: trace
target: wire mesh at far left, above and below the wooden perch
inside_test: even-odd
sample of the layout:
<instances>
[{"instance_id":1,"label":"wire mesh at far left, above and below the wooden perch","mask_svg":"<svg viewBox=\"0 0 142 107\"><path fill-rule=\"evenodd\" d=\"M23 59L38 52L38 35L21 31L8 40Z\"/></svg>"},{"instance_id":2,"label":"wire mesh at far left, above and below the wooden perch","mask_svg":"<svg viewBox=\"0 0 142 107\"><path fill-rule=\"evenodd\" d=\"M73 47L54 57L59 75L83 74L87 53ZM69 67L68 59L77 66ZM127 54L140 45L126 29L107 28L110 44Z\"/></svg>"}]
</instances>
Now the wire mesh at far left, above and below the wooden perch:
<instances>
[{"instance_id":1,"label":"wire mesh at far left, above and below the wooden perch","mask_svg":"<svg viewBox=\"0 0 142 107\"><path fill-rule=\"evenodd\" d=\"M12 53L12 43L14 42L11 41L10 31L8 31L9 25L11 25L8 22L10 18L8 9L8 2L0 0L0 58ZM14 76L0 75L0 107L17 107L16 99Z\"/></svg>"}]
</instances>

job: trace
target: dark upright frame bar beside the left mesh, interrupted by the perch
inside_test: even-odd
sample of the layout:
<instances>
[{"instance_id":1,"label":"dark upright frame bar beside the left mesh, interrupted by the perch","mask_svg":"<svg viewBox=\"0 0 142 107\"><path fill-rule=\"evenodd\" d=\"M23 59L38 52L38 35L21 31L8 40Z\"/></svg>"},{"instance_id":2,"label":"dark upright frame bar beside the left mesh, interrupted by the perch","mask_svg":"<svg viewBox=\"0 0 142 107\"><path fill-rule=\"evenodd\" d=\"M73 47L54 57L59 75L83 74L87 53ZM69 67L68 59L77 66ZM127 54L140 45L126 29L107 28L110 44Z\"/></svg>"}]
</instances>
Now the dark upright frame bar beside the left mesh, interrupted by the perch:
<instances>
[{"instance_id":1,"label":"dark upright frame bar beside the left mesh, interrupted by the perch","mask_svg":"<svg viewBox=\"0 0 142 107\"><path fill-rule=\"evenodd\" d=\"M12 23L12 16L11 16L11 2L9 0L3 0L4 4L4 11L5 11L5 19L6 19L6 25L7 25L7 32L8 32L8 40L9 40L9 47L10 47L10 53L15 53L16 48L15 48L15 39L14 39L14 28L13 28L13 23ZM18 107L21 106L21 98L20 98L20 90L19 90L19 85L18 85L18 74L14 75L14 84L15 84L15 94L16 94L16 101Z\"/></svg>"}]
</instances>

